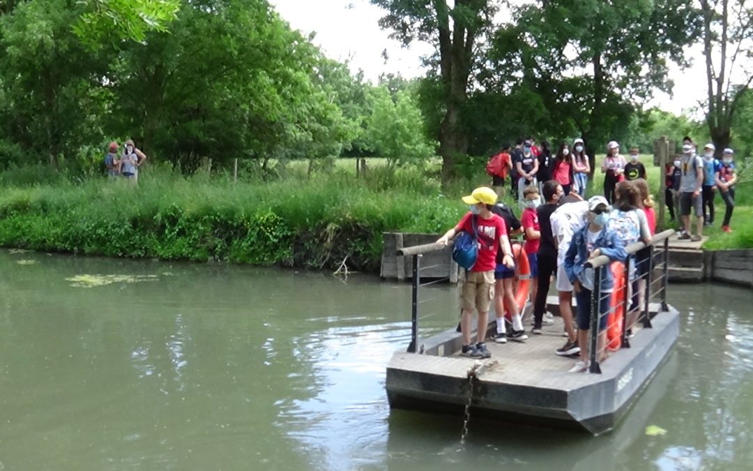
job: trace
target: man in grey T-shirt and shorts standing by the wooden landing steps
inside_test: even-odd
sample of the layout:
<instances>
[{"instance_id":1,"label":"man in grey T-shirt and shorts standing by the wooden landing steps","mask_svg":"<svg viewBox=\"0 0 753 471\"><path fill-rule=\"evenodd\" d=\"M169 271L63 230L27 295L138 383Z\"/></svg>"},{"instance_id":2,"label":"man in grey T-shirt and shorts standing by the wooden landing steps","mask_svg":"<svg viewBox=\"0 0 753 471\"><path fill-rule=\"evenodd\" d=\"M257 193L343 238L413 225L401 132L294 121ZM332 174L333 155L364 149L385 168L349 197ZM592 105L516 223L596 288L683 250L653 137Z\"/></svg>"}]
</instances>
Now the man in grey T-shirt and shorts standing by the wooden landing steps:
<instances>
[{"instance_id":1,"label":"man in grey T-shirt and shorts standing by the wooden landing steps","mask_svg":"<svg viewBox=\"0 0 753 471\"><path fill-rule=\"evenodd\" d=\"M694 151L693 144L682 146L682 158L680 160L682 176L680 177L680 216L685 228L682 240L701 240L703 235L703 200L701 198L701 186L703 185L703 159ZM693 234L691 225L691 208L696 215L696 231Z\"/></svg>"}]
</instances>

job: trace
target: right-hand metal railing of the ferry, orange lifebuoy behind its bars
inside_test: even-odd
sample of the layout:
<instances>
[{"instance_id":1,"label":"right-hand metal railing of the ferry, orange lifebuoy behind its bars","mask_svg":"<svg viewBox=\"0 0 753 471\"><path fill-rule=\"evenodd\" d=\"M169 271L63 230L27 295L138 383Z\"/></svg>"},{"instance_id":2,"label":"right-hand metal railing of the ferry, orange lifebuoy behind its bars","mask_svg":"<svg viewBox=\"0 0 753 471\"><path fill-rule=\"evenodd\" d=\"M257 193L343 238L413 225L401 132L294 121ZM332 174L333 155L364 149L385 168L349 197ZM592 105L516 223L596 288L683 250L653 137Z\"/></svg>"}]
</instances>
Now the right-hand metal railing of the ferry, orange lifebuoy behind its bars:
<instances>
[{"instance_id":1,"label":"right-hand metal railing of the ferry, orange lifebuoy behind its bars","mask_svg":"<svg viewBox=\"0 0 753 471\"><path fill-rule=\"evenodd\" d=\"M672 234L671 230L656 234L648 246L642 242L627 246L628 256L623 262L610 261L605 255L587 262L587 267L593 268L594 271L588 337L591 373L601 373L600 362L605 359L607 350L630 348L633 329L637 329L638 326L642 329L651 329L651 298L658 298L661 312L669 310L666 303L666 286L669 277L669 237ZM654 271L657 267L661 268L661 272L655 277ZM602 293L601 281L607 276L607 270L612 271L614 288L611 292ZM607 299L610 301L609 308L602 312L602 301ZM615 299L617 302L614 302ZM607 317L606 326L600 329L604 317ZM619 326L615 329L617 323ZM619 337L615 337L612 332L619 332ZM583 347L581 345L581 348Z\"/></svg>"}]
</instances>

